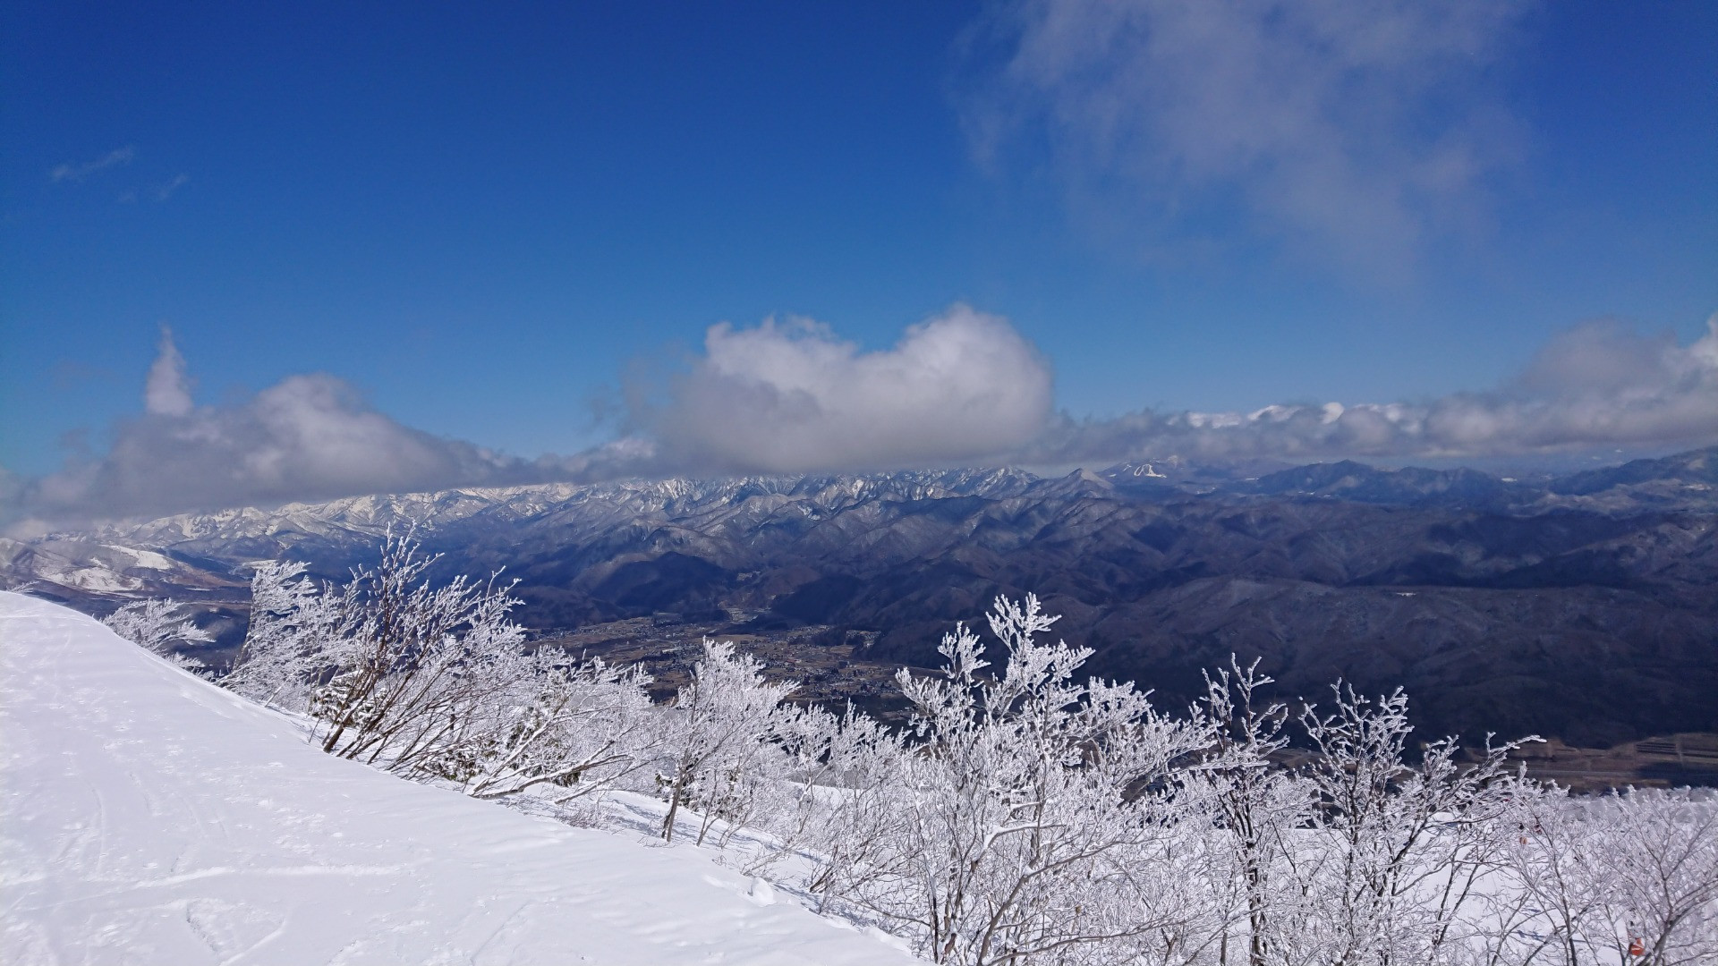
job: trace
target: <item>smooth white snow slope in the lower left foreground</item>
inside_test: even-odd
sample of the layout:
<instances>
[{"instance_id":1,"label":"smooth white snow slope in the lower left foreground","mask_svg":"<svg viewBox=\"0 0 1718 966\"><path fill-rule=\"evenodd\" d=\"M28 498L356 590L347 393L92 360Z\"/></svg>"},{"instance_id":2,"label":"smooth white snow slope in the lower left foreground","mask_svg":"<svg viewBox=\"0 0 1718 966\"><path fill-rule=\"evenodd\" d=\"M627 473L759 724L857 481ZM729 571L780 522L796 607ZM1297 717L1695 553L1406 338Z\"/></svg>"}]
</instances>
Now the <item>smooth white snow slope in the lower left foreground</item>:
<instances>
[{"instance_id":1,"label":"smooth white snow slope in the lower left foreground","mask_svg":"<svg viewBox=\"0 0 1718 966\"><path fill-rule=\"evenodd\" d=\"M321 755L64 607L0 593L0 959L911 963L691 847Z\"/></svg>"}]
</instances>

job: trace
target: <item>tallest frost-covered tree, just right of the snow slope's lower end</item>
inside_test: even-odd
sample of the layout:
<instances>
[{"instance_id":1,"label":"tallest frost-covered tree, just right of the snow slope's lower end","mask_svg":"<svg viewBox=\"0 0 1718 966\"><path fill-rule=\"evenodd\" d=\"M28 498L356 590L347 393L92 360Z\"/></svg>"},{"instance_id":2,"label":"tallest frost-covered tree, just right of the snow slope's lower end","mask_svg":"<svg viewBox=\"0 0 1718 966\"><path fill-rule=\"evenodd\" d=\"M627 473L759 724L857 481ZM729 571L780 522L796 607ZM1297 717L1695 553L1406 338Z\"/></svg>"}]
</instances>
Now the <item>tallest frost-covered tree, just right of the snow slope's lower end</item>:
<instances>
[{"instance_id":1,"label":"tallest frost-covered tree, just right of the snow slope's lower end","mask_svg":"<svg viewBox=\"0 0 1718 966\"><path fill-rule=\"evenodd\" d=\"M943 638L940 677L899 681L914 705L900 760L893 834L859 856L842 897L911 933L935 963L1079 961L1173 926L1153 908L1139 859L1167 834L1153 782L1206 737L1127 684L1075 681L1087 650L1036 639L1034 596L998 598L991 631L1007 651L986 676L978 636Z\"/></svg>"}]
</instances>

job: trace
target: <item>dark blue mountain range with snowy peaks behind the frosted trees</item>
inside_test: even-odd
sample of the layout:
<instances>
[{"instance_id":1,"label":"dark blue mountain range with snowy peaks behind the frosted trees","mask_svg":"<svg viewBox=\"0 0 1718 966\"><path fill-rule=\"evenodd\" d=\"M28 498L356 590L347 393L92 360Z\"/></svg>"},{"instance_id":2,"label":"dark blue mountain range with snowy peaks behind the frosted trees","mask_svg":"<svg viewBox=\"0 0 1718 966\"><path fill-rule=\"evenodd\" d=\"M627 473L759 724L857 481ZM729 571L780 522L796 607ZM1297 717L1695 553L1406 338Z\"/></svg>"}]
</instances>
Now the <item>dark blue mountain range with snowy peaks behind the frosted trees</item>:
<instances>
[{"instance_id":1,"label":"dark blue mountain range with snowy peaks behind the frosted trees","mask_svg":"<svg viewBox=\"0 0 1718 966\"><path fill-rule=\"evenodd\" d=\"M505 567L543 634L862 631L869 660L933 665L955 621L1038 593L1096 672L1172 705L1235 653L1314 700L1404 686L1438 734L1718 731L1718 449L1546 480L1168 462L447 490L0 540L0 578L91 612L198 600L230 646L244 564L342 578L412 524L447 574Z\"/></svg>"}]
</instances>

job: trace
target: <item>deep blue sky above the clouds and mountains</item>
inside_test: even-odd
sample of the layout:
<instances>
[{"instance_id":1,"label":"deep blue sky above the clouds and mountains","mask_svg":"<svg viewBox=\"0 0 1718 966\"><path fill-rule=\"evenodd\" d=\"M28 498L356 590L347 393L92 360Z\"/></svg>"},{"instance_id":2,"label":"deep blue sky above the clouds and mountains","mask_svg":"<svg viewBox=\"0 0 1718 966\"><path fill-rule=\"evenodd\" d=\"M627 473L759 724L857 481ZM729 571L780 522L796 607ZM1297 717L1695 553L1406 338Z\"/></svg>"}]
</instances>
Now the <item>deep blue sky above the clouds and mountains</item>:
<instances>
[{"instance_id":1,"label":"deep blue sky above the clouds and mountains","mask_svg":"<svg viewBox=\"0 0 1718 966\"><path fill-rule=\"evenodd\" d=\"M326 373L527 459L684 437L660 373L766 316L862 356L971 306L1063 423L1708 332L1718 7L1203 7L7 5L0 466L100 462L161 325L198 407ZM641 371L667 400L629 409Z\"/></svg>"}]
</instances>

